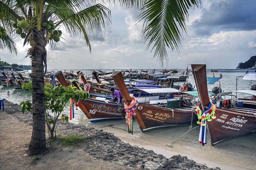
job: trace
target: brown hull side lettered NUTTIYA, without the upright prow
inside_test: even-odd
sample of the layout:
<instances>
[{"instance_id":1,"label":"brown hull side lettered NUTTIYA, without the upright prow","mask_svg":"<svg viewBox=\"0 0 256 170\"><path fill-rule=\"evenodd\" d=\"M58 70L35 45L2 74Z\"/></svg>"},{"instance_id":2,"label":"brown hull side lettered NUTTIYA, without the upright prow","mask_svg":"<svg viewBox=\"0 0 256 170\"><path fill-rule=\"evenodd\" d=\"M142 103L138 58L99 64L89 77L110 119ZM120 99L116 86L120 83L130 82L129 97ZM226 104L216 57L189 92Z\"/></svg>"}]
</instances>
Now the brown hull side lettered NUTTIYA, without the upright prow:
<instances>
[{"instance_id":1,"label":"brown hull side lettered NUTTIYA, without the upright prow","mask_svg":"<svg viewBox=\"0 0 256 170\"><path fill-rule=\"evenodd\" d=\"M212 145L256 130L256 115L217 108L216 119L207 122Z\"/></svg>"}]
</instances>

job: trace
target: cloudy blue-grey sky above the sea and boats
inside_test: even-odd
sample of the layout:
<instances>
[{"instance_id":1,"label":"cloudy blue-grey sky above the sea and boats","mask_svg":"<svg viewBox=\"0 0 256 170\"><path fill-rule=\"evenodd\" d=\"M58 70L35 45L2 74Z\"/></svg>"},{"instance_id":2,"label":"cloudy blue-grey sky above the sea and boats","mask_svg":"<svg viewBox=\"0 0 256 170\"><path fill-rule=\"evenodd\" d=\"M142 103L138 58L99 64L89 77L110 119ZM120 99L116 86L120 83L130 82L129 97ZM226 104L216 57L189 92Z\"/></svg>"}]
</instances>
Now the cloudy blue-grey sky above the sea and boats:
<instances>
[{"instance_id":1,"label":"cloudy blue-grey sky above the sea and boats","mask_svg":"<svg viewBox=\"0 0 256 170\"><path fill-rule=\"evenodd\" d=\"M82 37L62 34L65 40L56 49L47 46L49 69L184 69L191 63L235 69L256 55L255 0L201 0L198 9L189 11L180 52L168 49L168 66L163 67L145 51L143 23L136 19L140 11L105 5L111 9L112 23L102 35L90 36L92 53ZM29 46L22 44L17 43L17 56L1 50L1 61L29 65L31 61L23 59Z\"/></svg>"}]
</instances>

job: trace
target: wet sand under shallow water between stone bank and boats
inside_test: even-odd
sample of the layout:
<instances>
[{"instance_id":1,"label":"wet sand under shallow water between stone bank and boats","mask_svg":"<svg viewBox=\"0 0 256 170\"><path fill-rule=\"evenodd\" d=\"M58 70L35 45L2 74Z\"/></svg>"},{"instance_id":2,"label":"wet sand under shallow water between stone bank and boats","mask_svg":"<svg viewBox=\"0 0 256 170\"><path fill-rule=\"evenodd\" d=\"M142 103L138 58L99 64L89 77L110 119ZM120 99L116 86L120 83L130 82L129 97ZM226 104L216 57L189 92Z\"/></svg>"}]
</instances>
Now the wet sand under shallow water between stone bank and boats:
<instances>
[{"instance_id":1,"label":"wet sand under shallow water between stone bank and boats","mask_svg":"<svg viewBox=\"0 0 256 170\"><path fill-rule=\"evenodd\" d=\"M129 134L127 125L122 120L87 123L89 127L104 129L114 133L125 143L144 147L162 154L167 158L180 154L187 156L199 164L208 167L219 167L222 170L255 170L256 169L256 132L237 138L228 139L211 146L209 134L208 143L201 146L198 141L199 127L189 131L189 125L166 127L142 133L134 121L134 133ZM196 123L192 127L198 126ZM188 133L186 133L189 131ZM185 135L183 135L186 133ZM180 138L180 136L183 137ZM175 141L177 138L177 141ZM175 141L175 142L174 142ZM172 147L166 147L166 144Z\"/></svg>"}]
</instances>

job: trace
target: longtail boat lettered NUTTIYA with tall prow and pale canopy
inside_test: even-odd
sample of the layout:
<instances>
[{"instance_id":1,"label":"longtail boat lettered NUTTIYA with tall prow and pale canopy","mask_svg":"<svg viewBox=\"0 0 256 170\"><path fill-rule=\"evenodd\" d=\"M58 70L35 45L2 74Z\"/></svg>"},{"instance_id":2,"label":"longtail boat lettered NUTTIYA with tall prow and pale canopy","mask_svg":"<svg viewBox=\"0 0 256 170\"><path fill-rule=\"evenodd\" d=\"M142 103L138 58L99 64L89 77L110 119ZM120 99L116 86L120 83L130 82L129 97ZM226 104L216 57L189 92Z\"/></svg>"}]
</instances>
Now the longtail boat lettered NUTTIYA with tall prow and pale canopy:
<instances>
[{"instance_id":1,"label":"longtail boat lettered NUTTIYA with tall prow and pale canopy","mask_svg":"<svg viewBox=\"0 0 256 170\"><path fill-rule=\"evenodd\" d=\"M207 109L210 101L207 92L206 65L192 64L195 84L198 89L202 110ZM233 93L251 95L249 98L223 99L217 101L215 119L207 121L207 129L211 137L211 144L215 145L223 140L234 138L256 131L256 92L252 90L239 90ZM230 95L226 92L221 95ZM233 95L232 97L235 97ZM241 103L243 103L241 106ZM240 106L239 106L240 105Z\"/></svg>"}]
</instances>

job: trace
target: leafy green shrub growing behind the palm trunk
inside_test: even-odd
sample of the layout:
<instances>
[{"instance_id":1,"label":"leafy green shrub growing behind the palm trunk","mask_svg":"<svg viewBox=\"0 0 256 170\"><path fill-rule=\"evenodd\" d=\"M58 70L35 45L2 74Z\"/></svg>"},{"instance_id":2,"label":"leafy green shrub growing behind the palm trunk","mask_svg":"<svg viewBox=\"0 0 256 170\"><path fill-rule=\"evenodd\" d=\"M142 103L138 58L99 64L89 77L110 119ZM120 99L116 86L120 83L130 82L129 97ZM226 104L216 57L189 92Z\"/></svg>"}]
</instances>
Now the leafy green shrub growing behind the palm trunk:
<instances>
[{"instance_id":1,"label":"leafy green shrub growing behind the palm trunk","mask_svg":"<svg viewBox=\"0 0 256 170\"><path fill-rule=\"evenodd\" d=\"M23 89L32 89L32 82L23 83L21 85ZM56 124L58 118L61 115L61 121L68 122L69 117L65 114L61 114L65 105L70 102L70 98L78 102L80 100L86 100L89 98L89 93L82 89L76 89L71 86L55 86L52 90L52 84L44 85L44 101L45 101L45 119L47 128L49 131L49 138L54 138L53 132L55 132L58 124ZM31 101L23 101L20 103L22 112L32 112ZM52 114L49 114L51 112ZM56 134L55 134L56 136Z\"/></svg>"}]
</instances>

